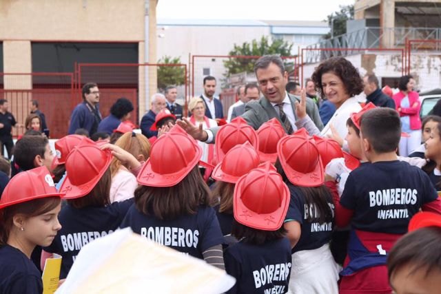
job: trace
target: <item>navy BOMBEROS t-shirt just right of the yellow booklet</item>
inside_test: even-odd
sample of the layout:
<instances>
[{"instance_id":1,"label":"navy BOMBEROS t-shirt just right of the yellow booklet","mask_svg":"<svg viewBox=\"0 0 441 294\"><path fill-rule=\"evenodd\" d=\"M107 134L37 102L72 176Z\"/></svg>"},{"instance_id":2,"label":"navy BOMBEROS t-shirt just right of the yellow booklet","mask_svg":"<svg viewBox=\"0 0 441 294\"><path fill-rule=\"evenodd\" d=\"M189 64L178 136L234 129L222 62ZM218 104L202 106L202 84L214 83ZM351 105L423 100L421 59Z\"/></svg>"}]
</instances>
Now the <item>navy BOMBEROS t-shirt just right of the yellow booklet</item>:
<instances>
[{"instance_id":1,"label":"navy BOMBEROS t-shirt just right of the yellow booklet","mask_svg":"<svg viewBox=\"0 0 441 294\"><path fill-rule=\"evenodd\" d=\"M58 253L63 257L60 279L68 275L76 255L83 246L118 229L132 204L133 198L123 202L113 202L107 207L76 209L70 204L62 207L59 214L62 228L52 244L43 248L46 252Z\"/></svg>"}]
</instances>

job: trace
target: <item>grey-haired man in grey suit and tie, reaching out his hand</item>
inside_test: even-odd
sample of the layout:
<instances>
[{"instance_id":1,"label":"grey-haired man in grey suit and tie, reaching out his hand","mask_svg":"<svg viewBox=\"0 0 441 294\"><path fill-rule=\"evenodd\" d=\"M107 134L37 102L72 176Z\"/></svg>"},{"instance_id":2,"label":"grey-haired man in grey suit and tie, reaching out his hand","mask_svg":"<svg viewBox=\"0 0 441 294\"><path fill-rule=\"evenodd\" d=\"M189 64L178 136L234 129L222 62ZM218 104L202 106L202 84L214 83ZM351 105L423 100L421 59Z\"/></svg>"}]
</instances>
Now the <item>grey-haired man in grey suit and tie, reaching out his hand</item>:
<instances>
[{"instance_id":1,"label":"grey-haired man in grey suit and tie, reaching out his hand","mask_svg":"<svg viewBox=\"0 0 441 294\"><path fill-rule=\"evenodd\" d=\"M305 127L309 134L317 134L323 128L318 114L316 103L306 98L302 90L302 99L286 92L288 73L285 71L282 59L278 55L265 55L260 57L254 65L254 72L263 97L258 101L249 101L245 105L242 117L254 129L271 118L277 118L283 125L287 134L292 134L296 129ZM212 143L216 137L218 127L202 129L192 125L187 119L178 120L178 125L193 136L196 140Z\"/></svg>"}]
</instances>

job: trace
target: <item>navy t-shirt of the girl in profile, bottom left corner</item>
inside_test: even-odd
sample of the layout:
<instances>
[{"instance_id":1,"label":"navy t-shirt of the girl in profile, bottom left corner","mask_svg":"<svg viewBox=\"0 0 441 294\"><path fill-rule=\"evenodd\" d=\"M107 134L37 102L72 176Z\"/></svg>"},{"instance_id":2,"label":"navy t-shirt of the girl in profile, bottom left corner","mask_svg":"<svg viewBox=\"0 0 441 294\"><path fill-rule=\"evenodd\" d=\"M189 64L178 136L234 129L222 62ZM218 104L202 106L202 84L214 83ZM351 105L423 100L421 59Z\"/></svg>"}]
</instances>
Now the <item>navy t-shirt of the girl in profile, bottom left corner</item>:
<instances>
[{"instance_id":1,"label":"navy t-shirt of the girl in profile, bottom left corner","mask_svg":"<svg viewBox=\"0 0 441 294\"><path fill-rule=\"evenodd\" d=\"M41 273L19 249L0 246L0 293L43 293Z\"/></svg>"}]
</instances>

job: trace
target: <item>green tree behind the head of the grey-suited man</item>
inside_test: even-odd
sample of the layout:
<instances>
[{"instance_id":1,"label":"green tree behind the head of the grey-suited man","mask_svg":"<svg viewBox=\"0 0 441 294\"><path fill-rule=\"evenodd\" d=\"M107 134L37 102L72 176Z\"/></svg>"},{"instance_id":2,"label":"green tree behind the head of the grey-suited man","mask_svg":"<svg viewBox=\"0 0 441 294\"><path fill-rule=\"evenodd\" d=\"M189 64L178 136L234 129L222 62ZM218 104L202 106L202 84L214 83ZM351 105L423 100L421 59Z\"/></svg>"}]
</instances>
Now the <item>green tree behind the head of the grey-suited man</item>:
<instances>
[{"instance_id":1,"label":"green tree behind the head of the grey-suited man","mask_svg":"<svg viewBox=\"0 0 441 294\"><path fill-rule=\"evenodd\" d=\"M246 55L246 56L262 56L265 54L280 54L280 56L291 56L292 43L283 41L282 39L273 39L269 41L267 36L263 36L260 40L254 39L251 43L244 42L242 45L234 44L233 50L228 54ZM225 76L237 74L239 72L253 72L254 63L257 59L230 58L223 62L227 69ZM285 67L289 70L293 63L285 63Z\"/></svg>"}]
</instances>

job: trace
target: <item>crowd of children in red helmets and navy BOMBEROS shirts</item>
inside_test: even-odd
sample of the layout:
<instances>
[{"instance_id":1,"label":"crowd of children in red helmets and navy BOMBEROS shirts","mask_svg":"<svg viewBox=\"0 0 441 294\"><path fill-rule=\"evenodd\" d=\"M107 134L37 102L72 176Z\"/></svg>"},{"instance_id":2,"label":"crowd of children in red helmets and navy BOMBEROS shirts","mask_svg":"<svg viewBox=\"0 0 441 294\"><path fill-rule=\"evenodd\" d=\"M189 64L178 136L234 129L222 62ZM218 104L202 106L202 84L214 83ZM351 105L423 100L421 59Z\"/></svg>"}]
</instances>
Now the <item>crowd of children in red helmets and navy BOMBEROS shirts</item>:
<instances>
[{"instance_id":1,"label":"crowd of children in red helmets and navy BOMBEROS shirts","mask_svg":"<svg viewBox=\"0 0 441 294\"><path fill-rule=\"evenodd\" d=\"M26 126L41 132L37 120ZM400 114L373 105L347 119L345 151L238 117L202 156L175 120L158 115L153 143L125 123L114 144L69 135L56 154L39 133L20 138L0 199L0 293L42 293L52 253L65 279L85 244L125 227L225 270L227 293L438 293L438 116L422 124L426 159L397 156Z\"/></svg>"}]
</instances>

